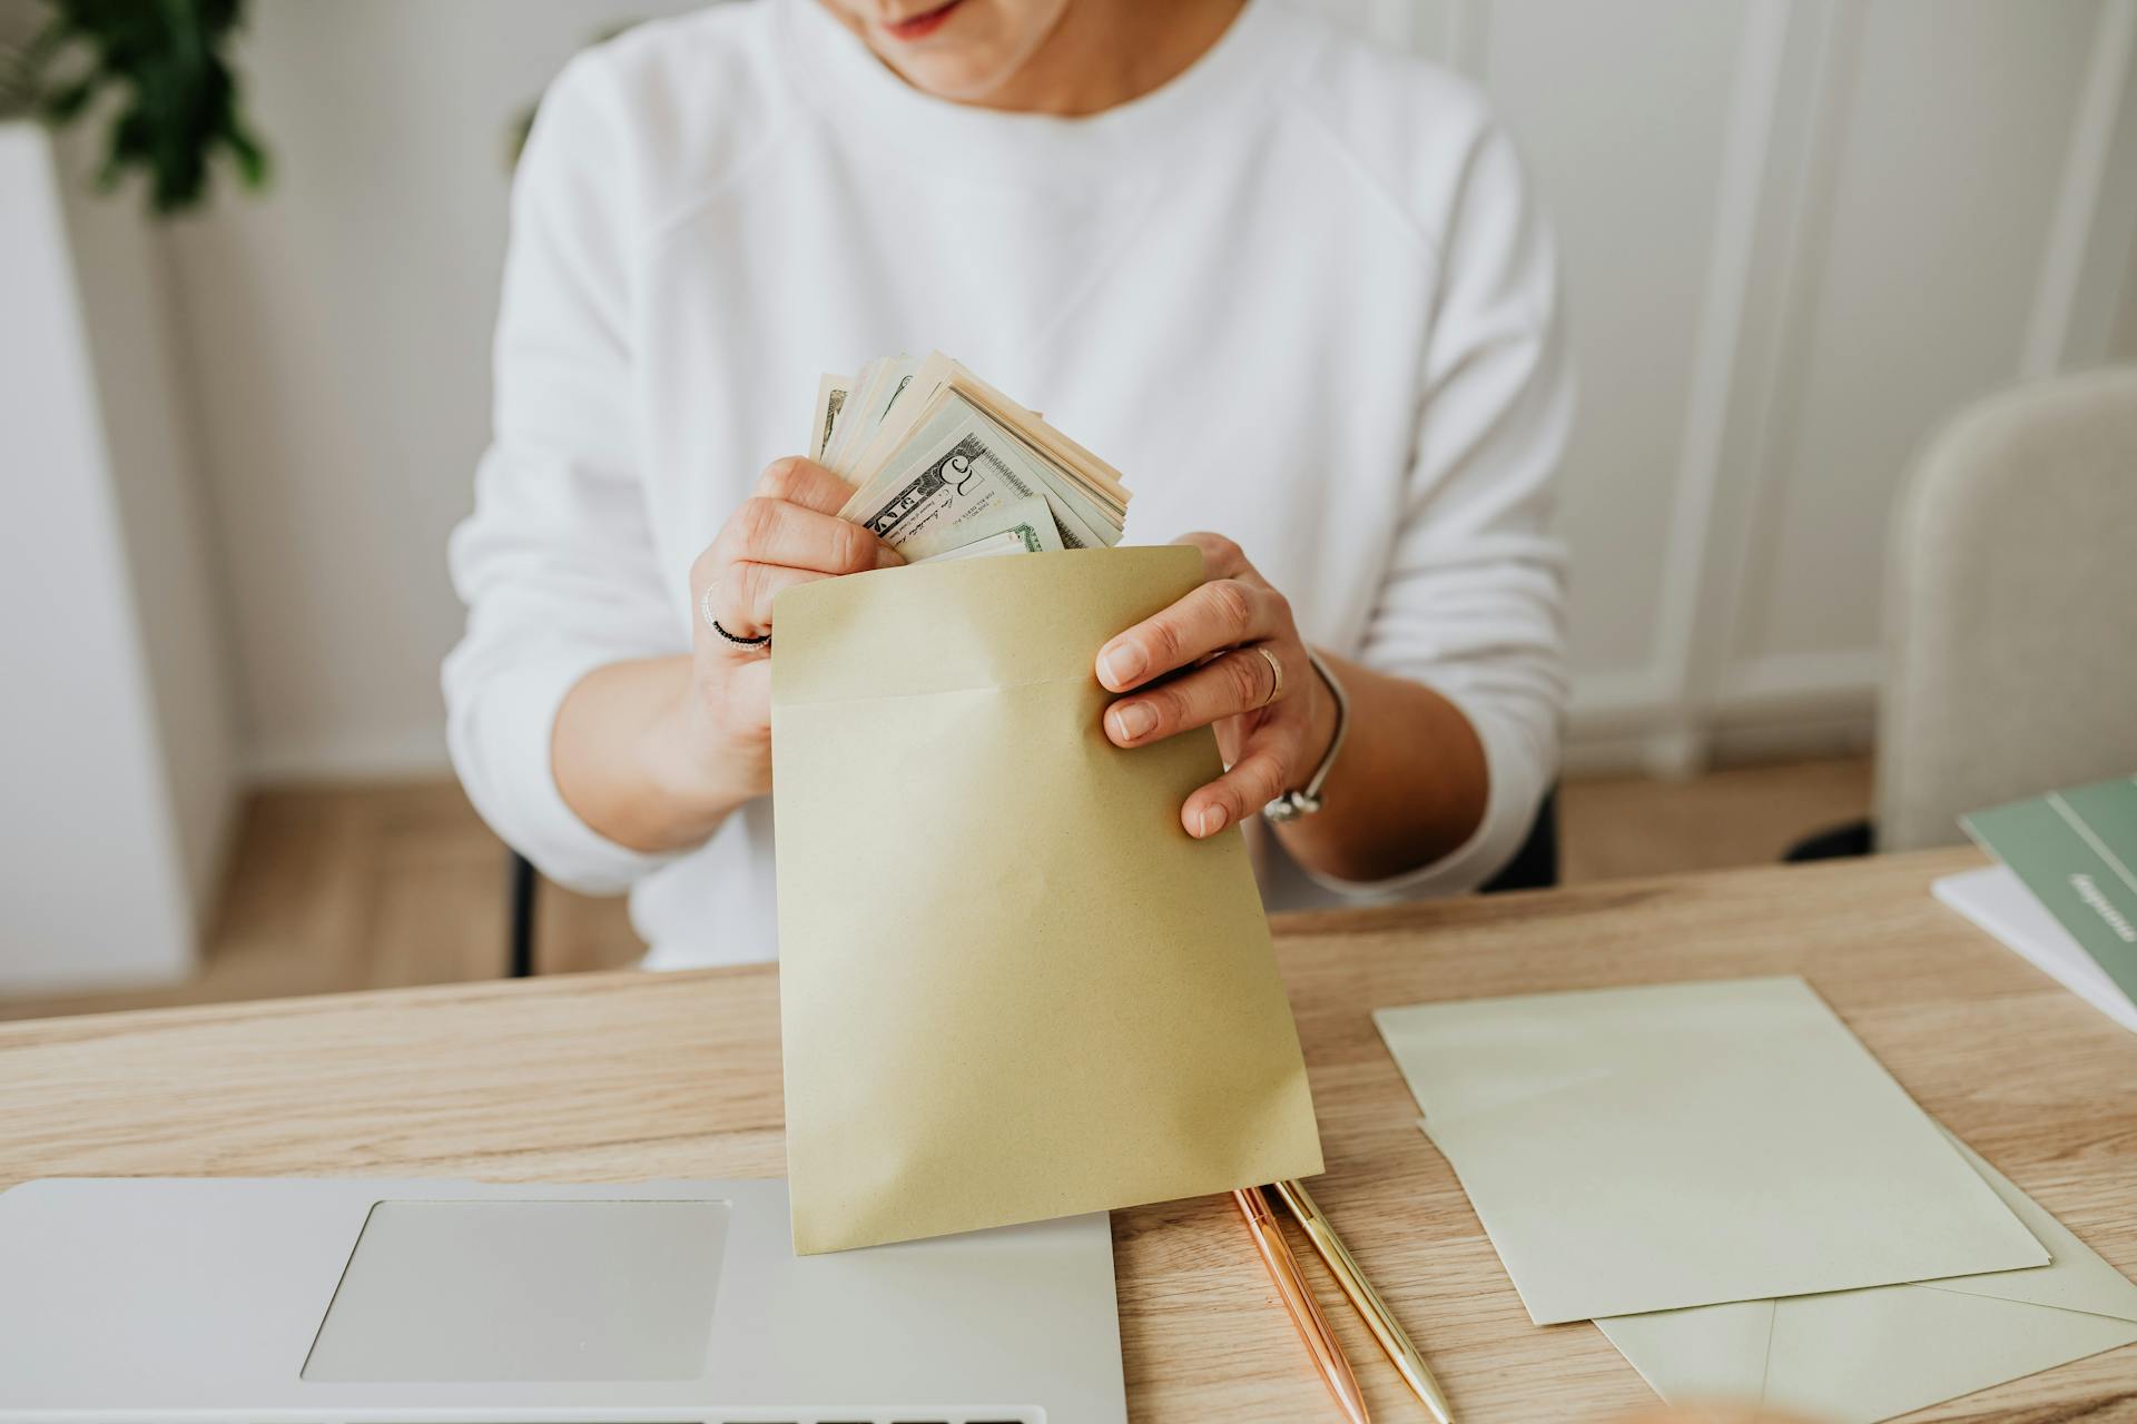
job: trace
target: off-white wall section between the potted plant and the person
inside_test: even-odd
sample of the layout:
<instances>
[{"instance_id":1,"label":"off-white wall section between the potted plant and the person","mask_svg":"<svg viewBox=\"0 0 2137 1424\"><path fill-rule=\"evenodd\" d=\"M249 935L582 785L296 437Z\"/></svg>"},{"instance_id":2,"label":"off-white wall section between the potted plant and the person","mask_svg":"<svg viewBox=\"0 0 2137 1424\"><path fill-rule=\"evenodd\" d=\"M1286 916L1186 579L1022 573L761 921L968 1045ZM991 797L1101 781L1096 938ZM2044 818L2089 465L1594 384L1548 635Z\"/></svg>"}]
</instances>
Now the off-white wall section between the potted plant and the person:
<instances>
[{"instance_id":1,"label":"off-white wall section between the potted plant and the person","mask_svg":"<svg viewBox=\"0 0 2137 1424\"><path fill-rule=\"evenodd\" d=\"M444 538L489 427L506 124L620 17L682 0L265 0L278 164L175 237L252 766L444 766Z\"/></svg>"}]
</instances>

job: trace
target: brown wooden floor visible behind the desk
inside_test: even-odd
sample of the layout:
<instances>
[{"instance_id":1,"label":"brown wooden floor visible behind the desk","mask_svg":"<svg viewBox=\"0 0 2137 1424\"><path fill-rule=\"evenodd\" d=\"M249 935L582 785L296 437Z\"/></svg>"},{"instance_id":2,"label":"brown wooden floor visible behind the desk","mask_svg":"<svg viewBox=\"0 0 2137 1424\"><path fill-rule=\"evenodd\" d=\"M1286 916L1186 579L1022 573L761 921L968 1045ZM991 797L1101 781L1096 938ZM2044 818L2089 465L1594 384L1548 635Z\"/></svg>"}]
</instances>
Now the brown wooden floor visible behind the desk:
<instances>
[{"instance_id":1,"label":"brown wooden floor visible behind the desk","mask_svg":"<svg viewBox=\"0 0 2137 1424\"><path fill-rule=\"evenodd\" d=\"M1791 841L1868 813L1870 764L1795 762L1690 781L1569 781L1566 882L1776 860ZM545 884L539 969L628 965L620 899ZM199 978L177 988L0 1001L0 1018L212 1003L498 978L506 969L504 848L451 781L274 790L246 807Z\"/></svg>"}]
</instances>

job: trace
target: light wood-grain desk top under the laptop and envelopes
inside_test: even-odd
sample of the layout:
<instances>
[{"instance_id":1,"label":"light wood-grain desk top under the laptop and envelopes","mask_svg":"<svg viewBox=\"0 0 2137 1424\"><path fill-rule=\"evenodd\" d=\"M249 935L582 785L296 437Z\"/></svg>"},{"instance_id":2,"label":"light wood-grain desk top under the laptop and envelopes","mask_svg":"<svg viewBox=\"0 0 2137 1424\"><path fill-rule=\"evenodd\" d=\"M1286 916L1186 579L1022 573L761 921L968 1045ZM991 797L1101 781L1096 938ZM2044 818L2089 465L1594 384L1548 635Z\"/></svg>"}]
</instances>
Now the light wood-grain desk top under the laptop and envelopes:
<instances>
[{"instance_id":1,"label":"light wood-grain desk top under the laptop and envelopes","mask_svg":"<svg viewBox=\"0 0 2137 1424\"><path fill-rule=\"evenodd\" d=\"M1930 899L1979 863L1806 869L1280 920L1329 1176L1314 1193L1457 1413L1652 1394L1588 1324L1528 1324L1372 1031L1387 1003L1804 974L1902 1085L2137 1275L2137 1038ZM0 1185L58 1174L776 1176L769 967L284 999L0 1027ZM1229 1200L1113 1213L1137 1420L1327 1420ZM1319 1270L1319 1262L1312 1262ZM1319 1281L1336 1300L1327 1281ZM1425 1418L1331 1309L1374 1415ZM2137 1420L2137 1347L1921 1420Z\"/></svg>"}]
</instances>

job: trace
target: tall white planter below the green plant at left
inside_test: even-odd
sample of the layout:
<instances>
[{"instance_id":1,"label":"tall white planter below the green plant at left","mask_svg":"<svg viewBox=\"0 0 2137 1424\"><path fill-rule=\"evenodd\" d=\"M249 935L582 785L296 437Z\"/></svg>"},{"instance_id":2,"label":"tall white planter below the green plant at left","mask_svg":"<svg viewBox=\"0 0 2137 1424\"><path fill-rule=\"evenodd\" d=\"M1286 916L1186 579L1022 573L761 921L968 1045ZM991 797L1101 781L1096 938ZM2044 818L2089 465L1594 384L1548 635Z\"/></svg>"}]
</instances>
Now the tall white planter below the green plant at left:
<instances>
[{"instance_id":1,"label":"tall white planter below the green plant at left","mask_svg":"<svg viewBox=\"0 0 2137 1424\"><path fill-rule=\"evenodd\" d=\"M0 124L0 995L173 982L233 807L214 566L130 194Z\"/></svg>"}]
</instances>

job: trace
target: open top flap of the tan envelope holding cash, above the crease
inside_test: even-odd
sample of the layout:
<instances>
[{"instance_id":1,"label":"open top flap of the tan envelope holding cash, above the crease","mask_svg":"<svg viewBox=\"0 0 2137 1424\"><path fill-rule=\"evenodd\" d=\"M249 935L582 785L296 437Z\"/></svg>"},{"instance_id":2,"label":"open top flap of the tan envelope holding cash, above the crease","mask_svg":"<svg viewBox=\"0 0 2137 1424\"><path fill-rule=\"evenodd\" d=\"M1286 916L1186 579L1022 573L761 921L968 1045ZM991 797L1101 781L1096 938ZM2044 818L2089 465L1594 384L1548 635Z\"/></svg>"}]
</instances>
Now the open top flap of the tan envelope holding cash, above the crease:
<instances>
[{"instance_id":1,"label":"open top flap of the tan envelope holding cash, above the crease","mask_svg":"<svg viewBox=\"0 0 2137 1424\"><path fill-rule=\"evenodd\" d=\"M1071 549L821 579L780 594L771 705L1090 679L1098 647L1201 583L1201 551ZM915 655L925 647L925 655Z\"/></svg>"}]
</instances>

